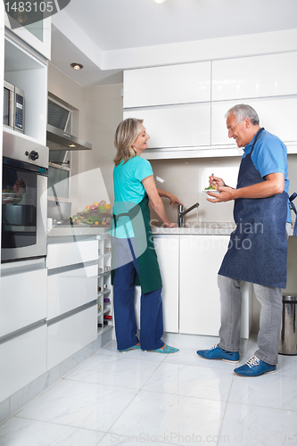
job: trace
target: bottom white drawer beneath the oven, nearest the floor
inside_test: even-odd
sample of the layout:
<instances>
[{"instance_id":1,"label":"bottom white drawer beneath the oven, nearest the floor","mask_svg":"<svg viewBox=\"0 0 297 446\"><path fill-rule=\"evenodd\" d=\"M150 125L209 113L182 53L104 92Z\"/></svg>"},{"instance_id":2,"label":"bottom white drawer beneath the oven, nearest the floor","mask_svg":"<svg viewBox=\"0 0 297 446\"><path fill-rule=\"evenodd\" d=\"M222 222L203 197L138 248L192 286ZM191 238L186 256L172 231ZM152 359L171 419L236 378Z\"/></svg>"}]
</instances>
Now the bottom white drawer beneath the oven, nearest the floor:
<instances>
[{"instance_id":1,"label":"bottom white drawer beneath the oven, nearest the floor","mask_svg":"<svg viewBox=\"0 0 297 446\"><path fill-rule=\"evenodd\" d=\"M46 371L46 326L0 344L0 401Z\"/></svg>"}]
</instances>

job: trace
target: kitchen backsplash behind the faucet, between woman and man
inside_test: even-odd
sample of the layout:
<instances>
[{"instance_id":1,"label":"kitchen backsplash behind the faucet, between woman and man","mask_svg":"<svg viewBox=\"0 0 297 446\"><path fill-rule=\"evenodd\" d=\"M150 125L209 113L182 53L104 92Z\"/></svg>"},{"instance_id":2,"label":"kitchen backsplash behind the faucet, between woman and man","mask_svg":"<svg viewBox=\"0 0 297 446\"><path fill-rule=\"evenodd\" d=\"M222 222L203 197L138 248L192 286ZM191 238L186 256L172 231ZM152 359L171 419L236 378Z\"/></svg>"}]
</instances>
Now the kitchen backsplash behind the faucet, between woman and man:
<instances>
[{"instance_id":1,"label":"kitchen backsplash behind the faucet, between woman and man","mask_svg":"<svg viewBox=\"0 0 297 446\"><path fill-rule=\"evenodd\" d=\"M195 158L186 160L154 160L154 178L159 189L177 195L185 209L199 202L198 219L200 221L233 221L233 202L211 203L206 200L202 190L208 186L211 173L223 178L228 186L235 187L241 157ZM288 156L290 194L297 192L297 154ZM158 178L164 180L163 183ZM169 220L177 222L177 206L163 199ZM159 219L152 211L152 219ZM294 216L292 216L294 219ZM185 216L185 223L197 221L197 212L190 211Z\"/></svg>"}]
</instances>

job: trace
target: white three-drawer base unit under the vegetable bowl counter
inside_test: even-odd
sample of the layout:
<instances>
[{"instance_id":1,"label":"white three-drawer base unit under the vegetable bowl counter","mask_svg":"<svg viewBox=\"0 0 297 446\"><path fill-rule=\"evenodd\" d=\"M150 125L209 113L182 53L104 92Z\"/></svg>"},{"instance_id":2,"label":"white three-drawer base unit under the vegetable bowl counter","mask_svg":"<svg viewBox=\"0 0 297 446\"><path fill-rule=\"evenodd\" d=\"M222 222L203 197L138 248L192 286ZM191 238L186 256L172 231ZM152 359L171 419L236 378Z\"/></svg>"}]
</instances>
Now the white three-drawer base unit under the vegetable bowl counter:
<instances>
[{"instance_id":1,"label":"white three-drawer base unit under the vegetable bowl counter","mask_svg":"<svg viewBox=\"0 0 297 446\"><path fill-rule=\"evenodd\" d=\"M48 243L47 370L96 340L98 276L96 238Z\"/></svg>"}]
</instances>

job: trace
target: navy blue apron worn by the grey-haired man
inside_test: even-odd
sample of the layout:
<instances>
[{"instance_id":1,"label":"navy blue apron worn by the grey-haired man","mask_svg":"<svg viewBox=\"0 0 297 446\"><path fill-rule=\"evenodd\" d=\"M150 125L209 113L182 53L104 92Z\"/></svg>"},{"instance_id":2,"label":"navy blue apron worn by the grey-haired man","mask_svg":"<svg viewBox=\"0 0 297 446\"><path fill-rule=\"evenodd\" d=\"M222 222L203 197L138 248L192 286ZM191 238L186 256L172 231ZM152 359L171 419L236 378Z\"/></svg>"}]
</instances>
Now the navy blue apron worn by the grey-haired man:
<instances>
[{"instance_id":1,"label":"navy blue apron worn by the grey-haired man","mask_svg":"<svg viewBox=\"0 0 297 446\"><path fill-rule=\"evenodd\" d=\"M263 130L260 128L251 152L241 161L236 189L266 181L252 162L254 145ZM285 191L268 198L235 199L236 228L230 236L219 275L285 288L287 206L288 194Z\"/></svg>"}]
</instances>

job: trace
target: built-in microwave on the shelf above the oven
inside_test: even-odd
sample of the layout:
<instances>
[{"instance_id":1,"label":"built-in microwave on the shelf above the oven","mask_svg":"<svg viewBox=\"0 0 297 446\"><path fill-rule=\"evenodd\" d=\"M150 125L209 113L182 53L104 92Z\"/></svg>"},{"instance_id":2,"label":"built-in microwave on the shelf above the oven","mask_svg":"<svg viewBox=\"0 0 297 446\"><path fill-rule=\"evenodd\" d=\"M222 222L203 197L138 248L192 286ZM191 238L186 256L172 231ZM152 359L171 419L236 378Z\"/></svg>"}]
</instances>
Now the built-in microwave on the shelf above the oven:
<instances>
[{"instance_id":1,"label":"built-in microwave on the shelf above the oven","mask_svg":"<svg viewBox=\"0 0 297 446\"><path fill-rule=\"evenodd\" d=\"M4 80L4 126L24 132L24 92Z\"/></svg>"}]
</instances>

